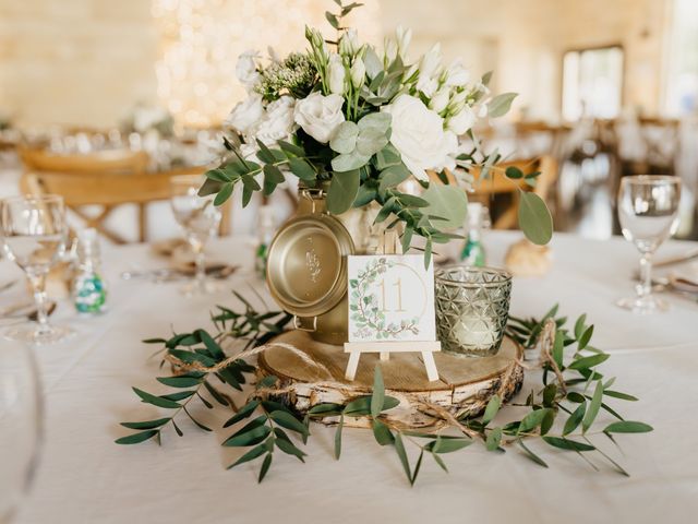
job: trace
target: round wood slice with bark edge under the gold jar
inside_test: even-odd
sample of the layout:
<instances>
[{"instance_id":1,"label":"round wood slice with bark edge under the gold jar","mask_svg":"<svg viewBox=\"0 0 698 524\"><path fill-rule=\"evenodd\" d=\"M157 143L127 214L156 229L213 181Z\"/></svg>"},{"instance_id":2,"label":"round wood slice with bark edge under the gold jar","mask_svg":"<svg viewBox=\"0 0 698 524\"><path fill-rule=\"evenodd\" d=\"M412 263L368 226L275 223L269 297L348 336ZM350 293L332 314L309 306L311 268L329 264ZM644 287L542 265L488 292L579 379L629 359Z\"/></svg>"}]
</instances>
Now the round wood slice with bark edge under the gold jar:
<instances>
[{"instance_id":1,"label":"round wood slice with bark edge under the gold jar","mask_svg":"<svg viewBox=\"0 0 698 524\"><path fill-rule=\"evenodd\" d=\"M272 346L260 355L260 374L274 374L280 379L285 393L281 401L301 414L316 404L346 404L357 396L371 392L373 370L378 361L377 353L361 355L356 380L345 377L349 354L342 346L314 341L303 331L289 331L272 343L285 343L304 352L322 368L312 366L287 348ZM453 415L478 415L494 394L510 398L521 386L524 358L520 345L505 337L500 353L492 357L459 357L448 353L435 353L440 380L429 382L419 353L394 353L382 362L386 394L400 400L400 405L386 413L387 417L402 427L424 428L437 426L438 418L430 416L425 404L447 408ZM368 427L365 418L348 419L345 424Z\"/></svg>"}]
</instances>

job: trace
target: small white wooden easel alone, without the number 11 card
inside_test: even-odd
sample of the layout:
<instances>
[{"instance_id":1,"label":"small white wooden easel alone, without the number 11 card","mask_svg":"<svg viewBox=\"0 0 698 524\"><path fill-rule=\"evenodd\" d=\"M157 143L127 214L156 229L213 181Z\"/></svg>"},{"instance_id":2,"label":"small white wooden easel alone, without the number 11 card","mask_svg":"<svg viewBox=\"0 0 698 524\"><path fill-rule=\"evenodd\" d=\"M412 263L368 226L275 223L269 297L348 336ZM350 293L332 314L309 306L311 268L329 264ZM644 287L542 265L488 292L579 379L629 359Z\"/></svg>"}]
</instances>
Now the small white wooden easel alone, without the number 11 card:
<instances>
[{"instance_id":1,"label":"small white wooden easel alone, without the number 11 card","mask_svg":"<svg viewBox=\"0 0 698 524\"><path fill-rule=\"evenodd\" d=\"M398 253L398 247L397 231L388 229L383 235L378 252L396 254ZM345 378L347 380L354 379L362 353L380 353L381 361L384 362L390 359L390 353L421 353L424 368L426 369L426 378L430 382L434 382L438 380L438 371L434 361L435 352L441 352L441 343L438 341L347 342L345 343L345 353L350 355Z\"/></svg>"}]
</instances>

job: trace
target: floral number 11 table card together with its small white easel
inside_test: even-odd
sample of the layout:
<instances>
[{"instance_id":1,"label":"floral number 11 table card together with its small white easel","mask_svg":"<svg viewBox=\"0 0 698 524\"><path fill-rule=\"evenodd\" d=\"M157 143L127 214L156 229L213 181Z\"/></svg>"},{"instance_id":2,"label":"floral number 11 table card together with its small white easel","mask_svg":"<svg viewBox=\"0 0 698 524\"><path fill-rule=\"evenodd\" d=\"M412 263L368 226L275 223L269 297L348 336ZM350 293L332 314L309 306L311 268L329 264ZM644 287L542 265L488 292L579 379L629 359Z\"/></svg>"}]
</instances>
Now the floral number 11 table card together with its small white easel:
<instances>
[{"instance_id":1,"label":"floral number 11 table card together with its small white easel","mask_svg":"<svg viewBox=\"0 0 698 524\"><path fill-rule=\"evenodd\" d=\"M361 353L420 352L429 380L438 379L433 352L434 270L421 254L349 257L349 342L346 377L353 380Z\"/></svg>"}]
</instances>

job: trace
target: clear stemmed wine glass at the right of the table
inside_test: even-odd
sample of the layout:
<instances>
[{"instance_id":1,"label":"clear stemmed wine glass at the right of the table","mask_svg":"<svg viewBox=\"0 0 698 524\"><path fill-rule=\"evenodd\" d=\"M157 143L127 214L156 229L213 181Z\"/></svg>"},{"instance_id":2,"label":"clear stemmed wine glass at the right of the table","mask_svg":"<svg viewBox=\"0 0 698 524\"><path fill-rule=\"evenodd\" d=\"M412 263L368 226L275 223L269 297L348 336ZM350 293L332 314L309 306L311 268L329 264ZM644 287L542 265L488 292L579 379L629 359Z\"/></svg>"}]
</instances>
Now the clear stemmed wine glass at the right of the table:
<instances>
[{"instance_id":1,"label":"clear stemmed wine glass at the right of the table","mask_svg":"<svg viewBox=\"0 0 698 524\"><path fill-rule=\"evenodd\" d=\"M676 231L681 179L673 176L623 177L618 192L618 218L623 236L640 251L640 284L636 296L617 305L634 313L665 311L669 303L652 295L652 255Z\"/></svg>"}]
</instances>

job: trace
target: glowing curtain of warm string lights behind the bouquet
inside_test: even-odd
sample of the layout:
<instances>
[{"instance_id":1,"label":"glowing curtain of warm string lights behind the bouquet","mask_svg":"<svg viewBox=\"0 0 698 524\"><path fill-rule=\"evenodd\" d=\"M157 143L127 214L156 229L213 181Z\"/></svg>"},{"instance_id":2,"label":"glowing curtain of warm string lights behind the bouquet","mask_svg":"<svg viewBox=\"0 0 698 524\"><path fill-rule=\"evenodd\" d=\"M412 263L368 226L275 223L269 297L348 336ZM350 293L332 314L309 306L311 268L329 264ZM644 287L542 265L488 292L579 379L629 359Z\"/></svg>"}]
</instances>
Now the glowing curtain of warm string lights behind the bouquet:
<instances>
[{"instance_id":1,"label":"glowing curtain of warm string lights behind the bouquet","mask_svg":"<svg viewBox=\"0 0 698 524\"><path fill-rule=\"evenodd\" d=\"M377 0L363 3L348 22L362 39L377 43ZM268 47L280 57L302 50L305 25L335 38L325 11L336 9L329 0L154 0L158 97L180 124L219 123L245 96L236 79L238 55L256 49L266 56Z\"/></svg>"}]
</instances>

